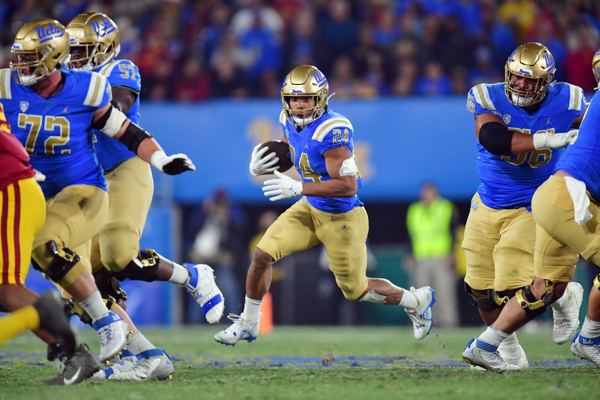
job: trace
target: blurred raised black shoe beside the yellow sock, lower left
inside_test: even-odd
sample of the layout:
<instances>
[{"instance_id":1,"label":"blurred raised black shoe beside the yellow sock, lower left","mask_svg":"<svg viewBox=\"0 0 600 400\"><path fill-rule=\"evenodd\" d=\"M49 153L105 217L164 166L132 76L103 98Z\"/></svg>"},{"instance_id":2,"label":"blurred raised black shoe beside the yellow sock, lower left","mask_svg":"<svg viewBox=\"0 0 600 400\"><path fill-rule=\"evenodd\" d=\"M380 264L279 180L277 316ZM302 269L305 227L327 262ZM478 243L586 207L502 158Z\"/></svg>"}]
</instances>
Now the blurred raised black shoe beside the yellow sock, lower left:
<instances>
[{"instance_id":1,"label":"blurred raised black shoe beside the yellow sock, lower left","mask_svg":"<svg viewBox=\"0 0 600 400\"><path fill-rule=\"evenodd\" d=\"M35 300L34 308L40 315L40 328L47 330L69 357L76 352L75 333L67 317L67 303L55 290L49 290Z\"/></svg>"}]
</instances>

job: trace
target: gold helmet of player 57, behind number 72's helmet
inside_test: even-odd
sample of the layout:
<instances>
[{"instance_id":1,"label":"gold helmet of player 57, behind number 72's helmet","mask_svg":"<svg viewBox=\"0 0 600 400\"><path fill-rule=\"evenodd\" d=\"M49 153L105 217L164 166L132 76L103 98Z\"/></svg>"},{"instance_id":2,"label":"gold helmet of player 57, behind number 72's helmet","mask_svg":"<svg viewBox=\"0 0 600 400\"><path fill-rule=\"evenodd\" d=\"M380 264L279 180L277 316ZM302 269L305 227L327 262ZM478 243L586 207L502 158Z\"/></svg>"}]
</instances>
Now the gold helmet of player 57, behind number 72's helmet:
<instances>
[{"instance_id":1,"label":"gold helmet of player 57, behind number 72's helmet","mask_svg":"<svg viewBox=\"0 0 600 400\"><path fill-rule=\"evenodd\" d=\"M114 59L121 51L119 28L106 14L86 11L67 25L71 46L71 67L93 71Z\"/></svg>"}]
</instances>

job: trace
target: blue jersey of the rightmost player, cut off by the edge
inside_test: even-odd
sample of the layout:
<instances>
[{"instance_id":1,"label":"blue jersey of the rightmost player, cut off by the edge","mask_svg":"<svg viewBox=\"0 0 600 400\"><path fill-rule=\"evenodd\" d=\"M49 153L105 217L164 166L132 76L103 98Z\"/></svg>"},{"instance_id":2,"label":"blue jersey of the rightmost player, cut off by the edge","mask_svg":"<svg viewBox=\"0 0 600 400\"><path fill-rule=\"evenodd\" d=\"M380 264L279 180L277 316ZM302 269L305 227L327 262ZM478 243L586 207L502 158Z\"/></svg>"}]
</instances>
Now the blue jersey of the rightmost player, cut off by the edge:
<instances>
[{"instance_id":1,"label":"blue jersey of the rightmost player, cut off by the edge","mask_svg":"<svg viewBox=\"0 0 600 400\"><path fill-rule=\"evenodd\" d=\"M600 92L592 98L579 133L563 152L556 170L585 182L587 191L600 200Z\"/></svg>"}]
</instances>

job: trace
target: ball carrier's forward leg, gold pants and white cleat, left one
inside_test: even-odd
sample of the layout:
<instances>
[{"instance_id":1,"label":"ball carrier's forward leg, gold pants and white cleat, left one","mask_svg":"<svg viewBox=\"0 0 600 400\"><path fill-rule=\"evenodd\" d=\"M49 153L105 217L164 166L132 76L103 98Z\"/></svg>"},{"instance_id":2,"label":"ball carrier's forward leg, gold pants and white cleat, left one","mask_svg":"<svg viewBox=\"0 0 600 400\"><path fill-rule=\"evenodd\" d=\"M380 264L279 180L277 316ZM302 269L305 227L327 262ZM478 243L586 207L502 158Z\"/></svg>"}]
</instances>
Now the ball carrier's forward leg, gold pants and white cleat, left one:
<instances>
[{"instance_id":1,"label":"ball carrier's forward leg, gold pants and white cleat, left one","mask_svg":"<svg viewBox=\"0 0 600 400\"><path fill-rule=\"evenodd\" d=\"M215 335L217 342L235 345L239 340L253 341L259 334L260 305L271 286L272 265L293 252L311 248L319 243L314 232L310 206L305 199L296 201L266 230L257 244L248 275L246 299L241 315L229 315L233 324Z\"/></svg>"}]
</instances>

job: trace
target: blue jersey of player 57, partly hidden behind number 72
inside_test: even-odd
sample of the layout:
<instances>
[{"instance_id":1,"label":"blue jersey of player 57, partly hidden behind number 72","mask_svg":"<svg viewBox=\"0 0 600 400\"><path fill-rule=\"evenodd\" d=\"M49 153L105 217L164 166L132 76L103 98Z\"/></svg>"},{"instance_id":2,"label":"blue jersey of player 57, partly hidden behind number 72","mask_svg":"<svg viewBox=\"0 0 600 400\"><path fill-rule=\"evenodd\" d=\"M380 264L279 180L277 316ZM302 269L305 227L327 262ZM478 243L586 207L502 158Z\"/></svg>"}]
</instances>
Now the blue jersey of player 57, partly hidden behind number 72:
<instances>
[{"instance_id":1,"label":"blue jersey of player 57, partly hidden behind number 72","mask_svg":"<svg viewBox=\"0 0 600 400\"><path fill-rule=\"evenodd\" d=\"M140 74L137 67L129 60L113 60L94 70L102 76L106 76L110 86L123 86L136 94L136 101L125 113L131 122L140 120L140 98L139 93L142 88ZM125 160L136 157L133 151L127 149L123 143L114 140L100 131L94 131L95 147L98 160L104 170L112 170Z\"/></svg>"}]
</instances>

